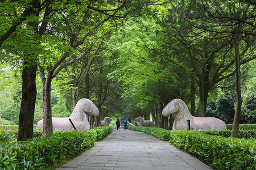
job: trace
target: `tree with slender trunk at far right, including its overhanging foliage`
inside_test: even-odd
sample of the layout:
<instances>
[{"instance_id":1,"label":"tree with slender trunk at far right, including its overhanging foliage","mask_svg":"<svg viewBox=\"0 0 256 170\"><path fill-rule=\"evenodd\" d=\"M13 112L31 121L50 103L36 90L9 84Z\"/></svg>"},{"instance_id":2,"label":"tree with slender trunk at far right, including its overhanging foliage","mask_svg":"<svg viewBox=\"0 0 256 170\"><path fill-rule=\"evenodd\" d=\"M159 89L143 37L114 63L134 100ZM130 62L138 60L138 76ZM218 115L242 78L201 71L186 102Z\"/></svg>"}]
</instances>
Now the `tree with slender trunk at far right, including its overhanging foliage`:
<instances>
[{"instance_id":1,"label":"tree with slender trunk at far right, including its overhanging foliage","mask_svg":"<svg viewBox=\"0 0 256 170\"><path fill-rule=\"evenodd\" d=\"M255 3L251 1L204 0L183 2L184 10L177 11L180 18L186 20L191 27L201 33L214 33L214 35L221 36L222 40L229 40L229 53L236 63L237 105L232 137L237 137L242 103L240 65L256 58L252 53L255 50ZM196 33L199 35L198 32ZM208 38L212 39L212 37Z\"/></svg>"}]
</instances>

